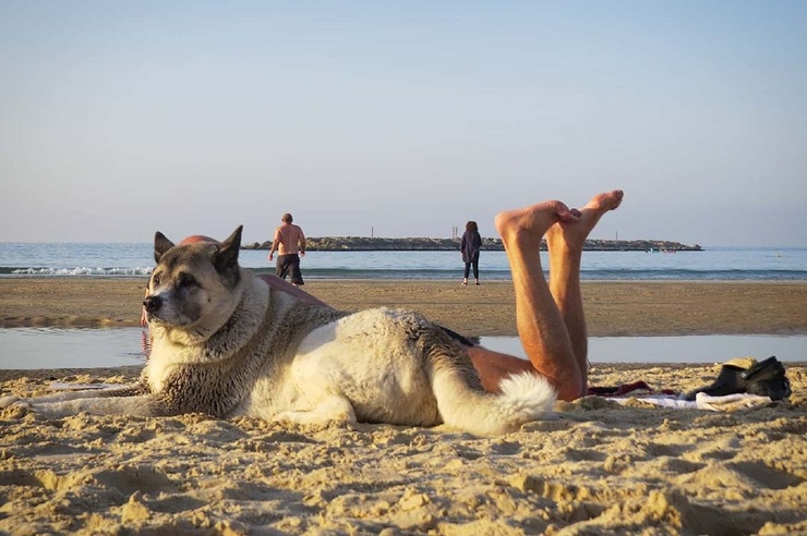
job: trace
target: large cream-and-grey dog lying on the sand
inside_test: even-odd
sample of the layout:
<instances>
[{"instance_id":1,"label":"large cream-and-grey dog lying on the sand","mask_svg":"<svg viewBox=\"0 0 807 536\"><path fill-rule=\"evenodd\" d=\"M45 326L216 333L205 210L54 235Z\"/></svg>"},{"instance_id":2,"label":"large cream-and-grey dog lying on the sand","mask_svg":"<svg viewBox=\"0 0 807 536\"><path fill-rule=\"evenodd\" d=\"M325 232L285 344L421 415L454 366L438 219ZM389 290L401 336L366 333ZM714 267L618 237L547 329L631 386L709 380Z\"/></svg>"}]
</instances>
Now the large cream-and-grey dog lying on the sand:
<instances>
[{"instance_id":1,"label":"large cream-and-grey dog lying on the sand","mask_svg":"<svg viewBox=\"0 0 807 536\"><path fill-rule=\"evenodd\" d=\"M528 373L484 391L466 350L422 316L380 307L344 313L273 290L238 264L241 227L221 244L155 236L144 301L152 354L137 383L64 392L28 404L145 416L201 412L291 423L445 423L479 436L547 412L552 387Z\"/></svg>"}]
</instances>

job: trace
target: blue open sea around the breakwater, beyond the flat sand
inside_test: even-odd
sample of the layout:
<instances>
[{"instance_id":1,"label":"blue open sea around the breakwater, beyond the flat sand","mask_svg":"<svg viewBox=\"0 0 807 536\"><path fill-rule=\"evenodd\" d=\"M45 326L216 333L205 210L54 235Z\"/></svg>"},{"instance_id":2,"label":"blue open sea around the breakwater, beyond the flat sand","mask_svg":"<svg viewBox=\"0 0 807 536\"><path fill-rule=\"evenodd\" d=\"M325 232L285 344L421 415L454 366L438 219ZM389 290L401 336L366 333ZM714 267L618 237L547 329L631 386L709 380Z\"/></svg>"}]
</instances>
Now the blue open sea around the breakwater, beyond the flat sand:
<instances>
[{"instance_id":1,"label":"blue open sea around the breakwater, beyond the flat sand","mask_svg":"<svg viewBox=\"0 0 807 536\"><path fill-rule=\"evenodd\" d=\"M0 278L148 277L149 243L0 243ZM266 251L242 249L241 266L274 272ZM549 266L545 252L544 267ZM462 277L459 252L309 252L305 279L432 279ZM509 280L504 252L482 252L481 279ZM583 280L797 281L807 280L807 247L709 247L700 252L585 252Z\"/></svg>"}]
</instances>

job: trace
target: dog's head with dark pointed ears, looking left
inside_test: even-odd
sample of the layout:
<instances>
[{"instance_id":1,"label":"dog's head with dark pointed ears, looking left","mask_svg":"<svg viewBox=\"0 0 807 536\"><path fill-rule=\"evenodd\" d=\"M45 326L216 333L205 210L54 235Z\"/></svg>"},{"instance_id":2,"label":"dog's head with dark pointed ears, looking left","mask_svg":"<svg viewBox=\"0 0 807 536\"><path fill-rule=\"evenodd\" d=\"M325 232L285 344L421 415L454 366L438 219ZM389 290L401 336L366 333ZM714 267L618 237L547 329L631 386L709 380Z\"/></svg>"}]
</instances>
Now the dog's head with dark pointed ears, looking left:
<instances>
[{"instance_id":1,"label":"dog's head with dark pointed ears, looking left","mask_svg":"<svg viewBox=\"0 0 807 536\"><path fill-rule=\"evenodd\" d=\"M162 233L155 234L157 266L143 301L149 324L198 332L224 325L240 301L242 229L221 243L208 239L174 245Z\"/></svg>"}]
</instances>

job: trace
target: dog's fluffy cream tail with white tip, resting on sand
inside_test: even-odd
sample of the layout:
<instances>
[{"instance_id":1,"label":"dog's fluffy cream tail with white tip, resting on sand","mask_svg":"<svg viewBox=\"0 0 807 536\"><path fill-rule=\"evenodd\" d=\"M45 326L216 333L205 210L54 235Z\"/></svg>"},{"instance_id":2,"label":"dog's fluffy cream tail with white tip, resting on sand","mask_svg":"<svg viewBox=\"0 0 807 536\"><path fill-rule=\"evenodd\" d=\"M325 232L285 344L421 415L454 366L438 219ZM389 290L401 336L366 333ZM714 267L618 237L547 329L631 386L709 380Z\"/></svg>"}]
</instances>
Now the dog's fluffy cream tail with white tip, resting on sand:
<instances>
[{"instance_id":1,"label":"dog's fluffy cream tail with white tip, resting on sand","mask_svg":"<svg viewBox=\"0 0 807 536\"><path fill-rule=\"evenodd\" d=\"M530 373L504 378L496 394L470 387L456 370L435 370L432 381L443 422L474 436L515 431L552 411L556 398L545 378Z\"/></svg>"}]
</instances>

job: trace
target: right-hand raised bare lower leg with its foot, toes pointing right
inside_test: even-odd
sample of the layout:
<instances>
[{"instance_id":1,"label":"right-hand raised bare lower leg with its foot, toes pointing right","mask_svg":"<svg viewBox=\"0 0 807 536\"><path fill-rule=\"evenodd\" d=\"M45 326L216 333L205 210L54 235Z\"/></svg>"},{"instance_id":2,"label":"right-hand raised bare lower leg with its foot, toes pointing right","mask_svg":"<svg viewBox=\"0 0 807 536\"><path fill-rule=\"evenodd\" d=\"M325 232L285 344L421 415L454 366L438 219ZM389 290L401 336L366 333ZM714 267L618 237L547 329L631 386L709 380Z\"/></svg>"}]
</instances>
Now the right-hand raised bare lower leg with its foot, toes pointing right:
<instances>
[{"instance_id":1,"label":"right-hand raised bare lower leg with its foot, toes pointing right","mask_svg":"<svg viewBox=\"0 0 807 536\"><path fill-rule=\"evenodd\" d=\"M583 389L588 386L588 333L580 292L582 247L600 218L616 209L623 196L621 190L595 195L580 209L577 222L566 224L559 221L545 235L550 251L550 292L566 325Z\"/></svg>"}]
</instances>

